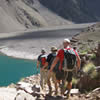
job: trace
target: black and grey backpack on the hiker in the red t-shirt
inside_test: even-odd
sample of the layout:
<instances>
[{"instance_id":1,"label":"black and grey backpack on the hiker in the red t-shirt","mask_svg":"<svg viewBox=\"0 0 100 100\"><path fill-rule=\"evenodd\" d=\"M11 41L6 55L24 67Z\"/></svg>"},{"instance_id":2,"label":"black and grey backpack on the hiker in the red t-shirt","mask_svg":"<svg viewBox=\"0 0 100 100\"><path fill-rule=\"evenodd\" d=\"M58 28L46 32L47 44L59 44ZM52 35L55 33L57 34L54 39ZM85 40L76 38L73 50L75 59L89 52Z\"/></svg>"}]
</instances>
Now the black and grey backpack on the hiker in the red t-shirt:
<instances>
[{"instance_id":1,"label":"black and grey backpack on the hiker in the red t-shirt","mask_svg":"<svg viewBox=\"0 0 100 100\"><path fill-rule=\"evenodd\" d=\"M63 70L73 71L76 65L76 52L72 48L64 49Z\"/></svg>"}]
</instances>

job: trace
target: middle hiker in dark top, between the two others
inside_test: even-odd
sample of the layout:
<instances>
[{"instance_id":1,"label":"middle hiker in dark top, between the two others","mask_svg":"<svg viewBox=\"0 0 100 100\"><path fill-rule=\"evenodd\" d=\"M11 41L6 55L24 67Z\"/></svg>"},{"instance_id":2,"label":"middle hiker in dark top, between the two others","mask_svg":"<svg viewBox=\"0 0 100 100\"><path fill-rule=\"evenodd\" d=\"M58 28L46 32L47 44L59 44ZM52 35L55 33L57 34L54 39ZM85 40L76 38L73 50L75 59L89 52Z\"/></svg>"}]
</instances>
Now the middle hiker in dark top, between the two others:
<instances>
[{"instance_id":1,"label":"middle hiker in dark top, between the two others","mask_svg":"<svg viewBox=\"0 0 100 100\"><path fill-rule=\"evenodd\" d=\"M44 67L42 68L43 70L45 68L47 68L48 70L50 70L50 67L51 67L51 64L53 62L53 60L55 59L56 57L56 52L57 52L57 48L55 46L52 46L51 47L51 53L47 56L47 61L46 61L46 64L44 65ZM48 75L48 80L47 80L47 85L49 87L49 95L52 94L52 87L51 87L51 81L50 79L52 78L52 81L55 85L55 95L58 93L58 86L57 86L57 81L56 81L56 77L55 77L55 71L56 71L56 67L55 69L53 70L53 72L51 72L49 75Z\"/></svg>"}]
</instances>

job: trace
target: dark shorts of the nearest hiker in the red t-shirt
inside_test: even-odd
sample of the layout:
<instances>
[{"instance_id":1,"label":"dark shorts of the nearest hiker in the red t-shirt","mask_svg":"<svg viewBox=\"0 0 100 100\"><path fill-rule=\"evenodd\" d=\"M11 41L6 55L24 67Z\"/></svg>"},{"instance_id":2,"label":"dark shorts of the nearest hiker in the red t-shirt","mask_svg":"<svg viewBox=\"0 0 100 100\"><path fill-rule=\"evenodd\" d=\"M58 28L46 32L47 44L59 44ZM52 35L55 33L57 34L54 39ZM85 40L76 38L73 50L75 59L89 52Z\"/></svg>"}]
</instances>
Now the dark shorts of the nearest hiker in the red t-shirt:
<instances>
[{"instance_id":1,"label":"dark shorts of the nearest hiker in the red t-shirt","mask_svg":"<svg viewBox=\"0 0 100 100\"><path fill-rule=\"evenodd\" d=\"M66 80L67 82L71 82L73 77L73 72L67 71L57 71L56 72L56 79L57 80Z\"/></svg>"}]
</instances>

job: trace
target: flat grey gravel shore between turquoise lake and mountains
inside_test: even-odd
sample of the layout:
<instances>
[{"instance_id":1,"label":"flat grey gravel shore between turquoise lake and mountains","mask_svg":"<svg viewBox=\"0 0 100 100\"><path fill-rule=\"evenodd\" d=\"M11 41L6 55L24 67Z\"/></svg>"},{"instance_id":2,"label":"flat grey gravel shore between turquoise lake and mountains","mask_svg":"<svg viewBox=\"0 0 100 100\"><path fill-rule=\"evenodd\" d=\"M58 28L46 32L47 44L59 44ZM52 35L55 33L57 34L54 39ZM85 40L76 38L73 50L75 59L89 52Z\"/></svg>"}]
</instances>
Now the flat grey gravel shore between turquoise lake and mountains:
<instances>
[{"instance_id":1,"label":"flat grey gravel shore between turquoise lake and mountains","mask_svg":"<svg viewBox=\"0 0 100 100\"><path fill-rule=\"evenodd\" d=\"M41 53L41 48L46 48L48 54L51 46L59 48L64 38L71 38L79 34L88 25L90 24L75 24L62 28L54 27L50 30L30 30L19 32L14 36L11 36L11 33L6 33L6 37L0 38L0 52L18 59L36 60Z\"/></svg>"}]
</instances>

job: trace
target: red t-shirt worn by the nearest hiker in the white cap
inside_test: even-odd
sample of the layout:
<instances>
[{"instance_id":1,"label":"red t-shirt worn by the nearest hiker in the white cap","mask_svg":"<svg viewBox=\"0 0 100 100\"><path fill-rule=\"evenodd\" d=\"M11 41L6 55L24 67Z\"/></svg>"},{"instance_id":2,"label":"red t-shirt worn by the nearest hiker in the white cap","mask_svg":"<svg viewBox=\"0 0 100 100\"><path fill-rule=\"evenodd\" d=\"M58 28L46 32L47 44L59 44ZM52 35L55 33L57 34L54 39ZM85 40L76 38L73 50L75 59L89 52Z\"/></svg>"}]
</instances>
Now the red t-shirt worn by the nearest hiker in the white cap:
<instances>
[{"instance_id":1,"label":"red t-shirt worn by the nearest hiker in the white cap","mask_svg":"<svg viewBox=\"0 0 100 100\"><path fill-rule=\"evenodd\" d=\"M72 48L65 48L66 50L70 50ZM78 53L73 49L73 51L75 52L76 56L79 56ZM57 54L57 57L59 58L60 60L60 65L59 65L59 70L62 69L63 67L63 60L64 60L64 50L63 49L60 49L58 51L58 54Z\"/></svg>"}]
</instances>

